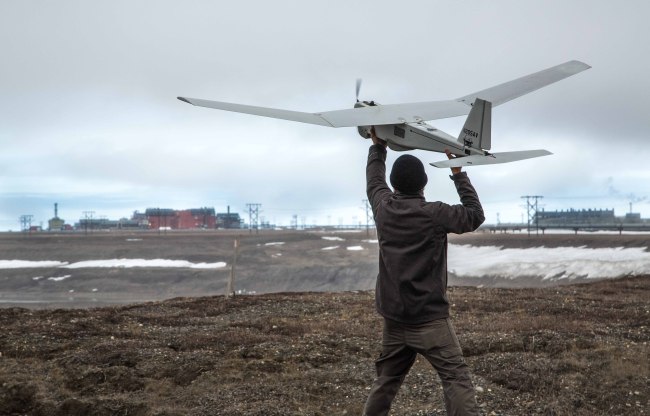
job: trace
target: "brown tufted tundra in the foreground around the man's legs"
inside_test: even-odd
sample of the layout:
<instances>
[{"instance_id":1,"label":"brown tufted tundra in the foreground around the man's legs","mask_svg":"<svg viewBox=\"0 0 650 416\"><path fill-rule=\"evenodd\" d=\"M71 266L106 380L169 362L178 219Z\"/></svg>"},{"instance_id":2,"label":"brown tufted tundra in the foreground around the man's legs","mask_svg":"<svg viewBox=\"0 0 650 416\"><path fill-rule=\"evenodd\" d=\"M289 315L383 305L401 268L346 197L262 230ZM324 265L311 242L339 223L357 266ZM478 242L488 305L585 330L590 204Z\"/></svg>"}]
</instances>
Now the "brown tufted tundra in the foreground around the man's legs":
<instances>
[{"instance_id":1,"label":"brown tufted tundra in the foreground around the man's legs","mask_svg":"<svg viewBox=\"0 0 650 416\"><path fill-rule=\"evenodd\" d=\"M485 415L650 412L650 276L450 298ZM361 291L12 308L0 331L3 415L358 415L381 328ZM444 414L426 362L393 414Z\"/></svg>"}]
</instances>

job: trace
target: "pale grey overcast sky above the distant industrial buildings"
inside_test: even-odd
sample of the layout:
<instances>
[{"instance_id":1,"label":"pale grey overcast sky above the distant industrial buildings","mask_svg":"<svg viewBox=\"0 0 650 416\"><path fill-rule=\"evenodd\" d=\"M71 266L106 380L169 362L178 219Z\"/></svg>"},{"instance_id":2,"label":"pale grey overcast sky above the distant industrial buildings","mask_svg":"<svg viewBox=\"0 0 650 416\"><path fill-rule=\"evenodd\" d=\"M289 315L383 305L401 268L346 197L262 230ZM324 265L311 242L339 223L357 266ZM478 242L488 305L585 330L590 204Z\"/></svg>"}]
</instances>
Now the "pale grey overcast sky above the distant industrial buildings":
<instances>
[{"instance_id":1,"label":"pale grey overcast sky above the distant industrial buildings","mask_svg":"<svg viewBox=\"0 0 650 416\"><path fill-rule=\"evenodd\" d=\"M495 107L492 150L552 156L466 169L488 223L546 210L650 217L650 2L0 2L0 230L83 211L214 207L288 225L365 221L369 141L193 107L317 112L453 99L577 59L593 68ZM457 135L464 117L432 121ZM428 162L444 155L413 152ZM398 153L389 153L389 168ZM428 166L426 197L457 203Z\"/></svg>"}]
</instances>

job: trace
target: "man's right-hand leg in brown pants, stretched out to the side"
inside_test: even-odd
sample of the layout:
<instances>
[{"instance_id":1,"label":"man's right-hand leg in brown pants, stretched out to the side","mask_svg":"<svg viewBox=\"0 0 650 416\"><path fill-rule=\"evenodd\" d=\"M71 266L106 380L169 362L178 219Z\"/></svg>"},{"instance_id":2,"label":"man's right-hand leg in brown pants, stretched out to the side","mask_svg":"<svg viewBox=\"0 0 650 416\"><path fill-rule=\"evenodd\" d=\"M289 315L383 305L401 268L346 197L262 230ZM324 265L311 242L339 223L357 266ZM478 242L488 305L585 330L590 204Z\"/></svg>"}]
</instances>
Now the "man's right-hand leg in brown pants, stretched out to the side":
<instances>
[{"instance_id":1,"label":"man's right-hand leg in brown pants, stretched out to the side","mask_svg":"<svg viewBox=\"0 0 650 416\"><path fill-rule=\"evenodd\" d=\"M421 343L418 351L431 363L442 381L448 415L478 415L474 386L463 360L458 338L451 321L440 319L418 331Z\"/></svg>"}]
</instances>

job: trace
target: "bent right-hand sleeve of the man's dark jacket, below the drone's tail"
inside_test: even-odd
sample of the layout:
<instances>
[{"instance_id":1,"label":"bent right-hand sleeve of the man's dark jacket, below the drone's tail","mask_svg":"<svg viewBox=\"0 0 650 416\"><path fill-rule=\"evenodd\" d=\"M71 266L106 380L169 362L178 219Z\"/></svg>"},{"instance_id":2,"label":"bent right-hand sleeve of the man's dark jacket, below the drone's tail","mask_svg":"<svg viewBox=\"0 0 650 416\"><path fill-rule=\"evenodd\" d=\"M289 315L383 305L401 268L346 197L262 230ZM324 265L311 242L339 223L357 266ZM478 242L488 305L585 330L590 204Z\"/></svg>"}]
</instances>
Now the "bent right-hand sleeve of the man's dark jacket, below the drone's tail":
<instances>
[{"instance_id":1,"label":"bent right-hand sleeve of the man's dark jacket, below the drone's tail","mask_svg":"<svg viewBox=\"0 0 650 416\"><path fill-rule=\"evenodd\" d=\"M462 234L476 230L483 221L483 207L466 172L450 176L460 197L459 205L447 205L443 226L448 233Z\"/></svg>"}]
</instances>

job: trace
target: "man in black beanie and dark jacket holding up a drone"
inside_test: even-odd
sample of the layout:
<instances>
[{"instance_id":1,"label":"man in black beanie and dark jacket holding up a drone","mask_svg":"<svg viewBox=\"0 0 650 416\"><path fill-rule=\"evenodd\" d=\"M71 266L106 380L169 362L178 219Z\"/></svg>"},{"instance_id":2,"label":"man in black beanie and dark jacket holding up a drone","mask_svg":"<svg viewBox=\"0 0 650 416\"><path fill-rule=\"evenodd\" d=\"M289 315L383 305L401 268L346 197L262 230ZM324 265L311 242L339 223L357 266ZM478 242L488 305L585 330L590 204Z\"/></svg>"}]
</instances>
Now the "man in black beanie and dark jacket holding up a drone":
<instances>
[{"instance_id":1,"label":"man in black beanie and dark jacket holding up a drone","mask_svg":"<svg viewBox=\"0 0 650 416\"><path fill-rule=\"evenodd\" d=\"M478 415L474 388L449 321L447 233L477 229L485 217L474 187L461 168L451 179L461 205L427 202L427 175L416 157L400 156L386 185L386 142L371 129L366 180L379 238L377 311L384 317L377 379L364 414L386 415L417 354L442 381L449 415ZM447 157L453 158L447 151Z\"/></svg>"}]
</instances>

